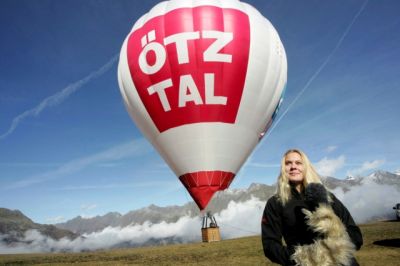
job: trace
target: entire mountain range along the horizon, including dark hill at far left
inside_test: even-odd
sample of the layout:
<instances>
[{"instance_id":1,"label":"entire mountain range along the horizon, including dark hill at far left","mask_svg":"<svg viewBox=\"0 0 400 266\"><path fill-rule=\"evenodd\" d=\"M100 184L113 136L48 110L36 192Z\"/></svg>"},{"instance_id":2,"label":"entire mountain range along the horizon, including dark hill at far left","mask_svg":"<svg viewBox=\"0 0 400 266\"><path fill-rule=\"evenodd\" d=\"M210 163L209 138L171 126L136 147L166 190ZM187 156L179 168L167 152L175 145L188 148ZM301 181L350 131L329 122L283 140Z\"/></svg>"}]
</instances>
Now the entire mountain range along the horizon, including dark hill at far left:
<instances>
[{"instance_id":1,"label":"entire mountain range along the horizon, including dark hill at far left","mask_svg":"<svg viewBox=\"0 0 400 266\"><path fill-rule=\"evenodd\" d=\"M344 193L366 183L388 185L400 191L400 173L377 171L366 177L348 177L337 179L322 177L322 182L329 190L341 189ZM214 195L207 211L219 213L228 207L230 202L245 202L251 198L267 201L276 190L276 185L252 184L247 189L227 189ZM400 201L400 199L399 199ZM393 202L395 204L395 202ZM55 240L61 238L76 239L80 235L100 232L105 228L125 228L129 225L138 225L145 222L157 224L162 221L174 223L183 216L196 217L199 215L198 207L189 202L183 206L159 207L150 205L145 208L130 211L124 215L110 212L92 218L78 216L65 223L55 225L42 225L34 223L18 210L0 208L0 242L5 244L15 243L23 239L28 230L37 230L42 235ZM382 217L380 217L382 218Z\"/></svg>"}]
</instances>

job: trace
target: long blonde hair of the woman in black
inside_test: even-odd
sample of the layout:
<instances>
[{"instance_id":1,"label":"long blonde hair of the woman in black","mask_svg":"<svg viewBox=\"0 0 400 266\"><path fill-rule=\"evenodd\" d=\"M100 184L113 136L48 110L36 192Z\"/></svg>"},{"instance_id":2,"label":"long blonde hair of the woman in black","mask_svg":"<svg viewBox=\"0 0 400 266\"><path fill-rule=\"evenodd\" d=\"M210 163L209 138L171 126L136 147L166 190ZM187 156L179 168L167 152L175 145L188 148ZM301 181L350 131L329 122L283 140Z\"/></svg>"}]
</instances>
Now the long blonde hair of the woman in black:
<instances>
[{"instance_id":1,"label":"long blonde hair of the woman in black","mask_svg":"<svg viewBox=\"0 0 400 266\"><path fill-rule=\"evenodd\" d=\"M314 167L312 166L310 160L308 159L307 155L299 149L291 149L285 152L281 160L281 172L278 176L278 186L277 186L277 196L278 199L281 201L282 205L285 205L291 198L291 188L289 184L289 177L286 175L285 171L285 162L286 156L289 153L297 153L300 155L303 161L303 188L306 187L310 183L321 183L321 180L315 171Z\"/></svg>"}]
</instances>

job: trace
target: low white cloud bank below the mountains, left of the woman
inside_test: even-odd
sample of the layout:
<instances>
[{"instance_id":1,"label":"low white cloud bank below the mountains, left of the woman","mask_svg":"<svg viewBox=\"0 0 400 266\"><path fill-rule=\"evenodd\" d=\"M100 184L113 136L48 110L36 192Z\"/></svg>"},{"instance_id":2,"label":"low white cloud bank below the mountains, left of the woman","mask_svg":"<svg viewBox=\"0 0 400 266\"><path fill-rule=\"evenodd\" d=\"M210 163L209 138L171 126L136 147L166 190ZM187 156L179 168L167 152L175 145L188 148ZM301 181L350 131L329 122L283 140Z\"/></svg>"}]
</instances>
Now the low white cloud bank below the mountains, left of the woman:
<instances>
[{"instance_id":1,"label":"low white cloud bank below the mountains, left of the woman","mask_svg":"<svg viewBox=\"0 0 400 266\"><path fill-rule=\"evenodd\" d=\"M215 215L223 239L236 238L260 233L261 214L265 202L252 198L249 201L231 202L221 213ZM245 219L244 219L245 218ZM81 238L53 240L36 230L25 233L19 243L7 246L0 236L0 254L36 252L80 252L97 249L110 249L121 246L145 244L189 243L201 240L201 217L181 217L174 223L133 224L127 227L107 227L101 232L84 234Z\"/></svg>"}]
</instances>

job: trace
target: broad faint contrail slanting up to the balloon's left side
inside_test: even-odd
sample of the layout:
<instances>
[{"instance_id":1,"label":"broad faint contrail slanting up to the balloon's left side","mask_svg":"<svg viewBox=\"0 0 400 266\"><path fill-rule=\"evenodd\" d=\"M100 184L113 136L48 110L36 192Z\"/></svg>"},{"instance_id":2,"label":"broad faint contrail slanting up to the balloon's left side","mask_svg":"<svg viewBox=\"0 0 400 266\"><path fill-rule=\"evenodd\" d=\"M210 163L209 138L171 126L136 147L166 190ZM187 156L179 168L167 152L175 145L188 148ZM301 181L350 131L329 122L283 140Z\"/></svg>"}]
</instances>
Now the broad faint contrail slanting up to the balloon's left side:
<instances>
[{"instance_id":1,"label":"broad faint contrail slanting up to the balloon's left side","mask_svg":"<svg viewBox=\"0 0 400 266\"><path fill-rule=\"evenodd\" d=\"M92 73L90 73L88 76L84 77L81 80L71 83L70 85L68 85L61 91L57 92L56 94L53 94L53 95L45 98L34 108L29 109L29 110L19 114L18 116L14 117L10 128L5 133L0 135L0 140L5 139L7 136L9 136L11 133L13 133L14 130L18 127L18 125L26 118L28 118L30 116L38 116L44 109L62 103L72 93L74 93L77 90L79 90L80 88L82 88L88 82L103 75L105 72L107 72L113 66L113 64L115 63L115 61L117 61L117 59L118 59L118 55L113 56L104 66L102 66L98 70L93 71Z\"/></svg>"}]
</instances>

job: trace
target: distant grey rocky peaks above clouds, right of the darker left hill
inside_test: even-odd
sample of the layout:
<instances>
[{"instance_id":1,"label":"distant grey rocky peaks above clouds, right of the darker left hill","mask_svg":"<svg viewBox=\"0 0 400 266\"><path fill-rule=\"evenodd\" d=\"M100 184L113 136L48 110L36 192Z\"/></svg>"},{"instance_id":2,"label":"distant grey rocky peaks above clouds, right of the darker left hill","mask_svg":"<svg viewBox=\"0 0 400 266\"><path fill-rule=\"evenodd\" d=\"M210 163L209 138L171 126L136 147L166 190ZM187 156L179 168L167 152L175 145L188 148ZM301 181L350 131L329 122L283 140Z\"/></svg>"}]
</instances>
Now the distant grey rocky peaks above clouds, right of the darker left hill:
<instances>
[{"instance_id":1,"label":"distant grey rocky peaks above clouds, right of the darker left hill","mask_svg":"<svg viewBox=\"0 0 400 266\"><path fill-rule=\"evenodd\" d=\"M356 186L361 186L367 182L373 182L378 185L395 186L400 191L400 173L390 173L386 171L376 171L366 177L348 177L346 179L337 179L334 177L321 177L322 182L329 190L342 189L344 192L351 190ZM276 190L276 185L252 184L247 189L227 189L214 195L207 211L218 213L227 208L231 201L243 202L251 197L267 201ZM400 200L400 199L399 199ZM106 227L126 227L133 224L143 224L151 222L153 224L165 221L168 223L176 222L180 217L194 217L199 214L198 207L189 202L183 206L158 207L150 205L145 208L130 211L124 215L117 212L110 212L106 215L92 218L83 218L78 216L65 223L56 224L60 229L70 230L76 234L93 233L103 230Z\"/></svg>"}]
</instances>

